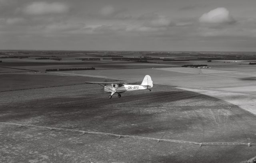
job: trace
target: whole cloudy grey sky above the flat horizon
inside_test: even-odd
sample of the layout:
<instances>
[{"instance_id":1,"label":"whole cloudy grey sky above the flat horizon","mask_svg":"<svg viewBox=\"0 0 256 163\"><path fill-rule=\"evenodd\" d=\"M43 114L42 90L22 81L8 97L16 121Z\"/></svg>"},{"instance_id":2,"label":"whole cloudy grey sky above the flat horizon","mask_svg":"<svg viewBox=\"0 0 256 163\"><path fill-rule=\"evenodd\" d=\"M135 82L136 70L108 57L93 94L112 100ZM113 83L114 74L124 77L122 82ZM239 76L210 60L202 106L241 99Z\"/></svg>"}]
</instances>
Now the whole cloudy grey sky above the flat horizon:
<instances>
[{"instance_id":1,"label":"whole cloudy grey sky above the flat horizon","mask_svg":"<svg viewBox=\"0 0 256 163\"><path fill-rule=\"evenodd\" d=\"M256 0L0 0L0 49L256 51Z\"/></svg>"}]
</instances>

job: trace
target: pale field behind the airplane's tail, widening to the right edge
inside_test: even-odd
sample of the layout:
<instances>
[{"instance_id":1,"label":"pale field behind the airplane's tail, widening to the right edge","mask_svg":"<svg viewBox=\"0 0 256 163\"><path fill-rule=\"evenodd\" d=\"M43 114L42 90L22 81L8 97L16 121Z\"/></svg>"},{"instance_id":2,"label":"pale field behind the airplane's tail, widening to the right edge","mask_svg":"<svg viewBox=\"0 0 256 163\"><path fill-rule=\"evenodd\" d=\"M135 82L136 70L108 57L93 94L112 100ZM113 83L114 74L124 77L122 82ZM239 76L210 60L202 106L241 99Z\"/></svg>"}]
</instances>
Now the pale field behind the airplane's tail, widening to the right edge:
<instances>
[{"instance_id":1,"label":"pale field behind the airplane's tail, widening to the right edge","mask_svg":"<svg viewBox=\"0 0 256 163\"><path fill-rule=\"evenodd\" d=\"M247 71L246 71L247 70ZM57 74L63 74L58 72ZM204 93L238 105L256 114L256 72L253 65L238 65L198 69L186 67L156 69L122 69L94 71L66 71L63 75L98 75L112 79L142 80L150 75L155 84L177 86L190 91ZM248 89L250 86L250 90ZM223 90L228 89L228 91ZM221 94L221 96L220 96Z\"/></svg>"}]
</instances>

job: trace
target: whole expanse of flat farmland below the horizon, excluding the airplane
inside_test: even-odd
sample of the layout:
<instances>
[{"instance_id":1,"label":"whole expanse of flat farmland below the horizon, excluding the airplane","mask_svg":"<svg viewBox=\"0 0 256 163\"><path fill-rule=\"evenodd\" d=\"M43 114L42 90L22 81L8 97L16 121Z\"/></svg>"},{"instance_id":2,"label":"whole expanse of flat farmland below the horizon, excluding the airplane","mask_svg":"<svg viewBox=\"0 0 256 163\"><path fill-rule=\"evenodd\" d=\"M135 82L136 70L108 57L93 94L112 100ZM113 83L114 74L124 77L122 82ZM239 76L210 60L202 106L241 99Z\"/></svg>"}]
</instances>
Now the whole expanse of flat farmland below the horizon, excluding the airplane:
<instances>
[{"instance_id":1,"label":"whole expanse of flat farmland below the horizon, excluding the airplane","mask_svg":"<svg viewBox=\"0 0 256 163\"><path fill-rule=\"evenodd\" d=\"M0 162L241 163L256 155L253 60L78 59L92 54L1 59ZM35 59L50 56L62 60ZM192 64L211 69L181 67ZM45 72L88 67L96 70ZM121 98L84 83L140 83L145 75L154 82L151 92Z\"/></svg>"}]
</instances>

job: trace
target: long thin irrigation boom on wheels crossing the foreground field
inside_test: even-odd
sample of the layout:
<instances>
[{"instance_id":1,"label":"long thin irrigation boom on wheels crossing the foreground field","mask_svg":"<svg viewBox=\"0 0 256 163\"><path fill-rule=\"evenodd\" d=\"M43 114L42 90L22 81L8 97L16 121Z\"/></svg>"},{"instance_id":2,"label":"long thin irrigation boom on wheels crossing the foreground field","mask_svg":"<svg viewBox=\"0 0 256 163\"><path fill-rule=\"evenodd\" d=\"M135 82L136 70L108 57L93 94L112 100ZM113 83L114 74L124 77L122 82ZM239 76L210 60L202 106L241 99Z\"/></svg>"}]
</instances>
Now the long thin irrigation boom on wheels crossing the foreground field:
<instances>
[{"instance_id":1,"label":"long thin irrigation boom on wheels crossing the foreground field","mask_svg":"<svg viewBox=\"0 0 256 163\"><path fill-rule=\"evenodd\" d=\"M194 144L205 146L205 145L246 145L248 147L250 146L256 146L256 143L238 143L238 142L206 142L206 143L198 143L193 141L183 141L183 140L172 140L172 139L158 139L153 137L143 137L143 136L130 136L130 135L120 135L120 134L111 134L111 133L104 133L104 132L88 132L88 131L82 131L82 130L74 130L74 129L67 129L67 128L51 128L46 126L36 126L36 125L29 125L29 124L15 124L15 123L9 123L9 122L0 122L0 124L10 124L10 125L17 125L17 126L30 126L30 127L38 127L38 128L46 128L51 130L64 130L64 131L72 131L72 132L81 132L82 134L99 134L99 135L108 135L108 136L116 136L116 137L130 137L134 139L144 139L144 140L156 140L157 142L160 141L168 141L168 142L175 142L175 143L186 143L186 144Z\"/></svg>"}]
</instances>

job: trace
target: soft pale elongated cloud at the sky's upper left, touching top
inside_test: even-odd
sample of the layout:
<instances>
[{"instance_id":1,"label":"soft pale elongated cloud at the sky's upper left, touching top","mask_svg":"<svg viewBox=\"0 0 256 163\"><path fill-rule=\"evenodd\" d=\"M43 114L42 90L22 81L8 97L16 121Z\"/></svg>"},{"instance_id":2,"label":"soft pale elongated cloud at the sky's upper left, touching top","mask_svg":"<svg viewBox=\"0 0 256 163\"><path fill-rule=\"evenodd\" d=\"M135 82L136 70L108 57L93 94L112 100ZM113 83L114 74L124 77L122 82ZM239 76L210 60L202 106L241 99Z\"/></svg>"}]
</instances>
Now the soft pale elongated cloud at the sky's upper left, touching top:
<instances>
[{"instance_id":1,"label":"soft pale elongated cloud at the sky's upper left, touching top","mask_svg":"<svg viewBox=\"0 0 256 163\"><path fill-rule=\"evenodd\" d=\"M69 8L66 4L60 2L33 2L26 6L24 13L29 15L43 15L43 14L61 14L68 12Z\"/></svg>"}]
</instances>

